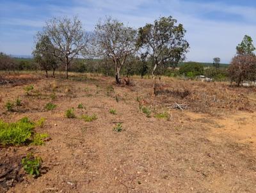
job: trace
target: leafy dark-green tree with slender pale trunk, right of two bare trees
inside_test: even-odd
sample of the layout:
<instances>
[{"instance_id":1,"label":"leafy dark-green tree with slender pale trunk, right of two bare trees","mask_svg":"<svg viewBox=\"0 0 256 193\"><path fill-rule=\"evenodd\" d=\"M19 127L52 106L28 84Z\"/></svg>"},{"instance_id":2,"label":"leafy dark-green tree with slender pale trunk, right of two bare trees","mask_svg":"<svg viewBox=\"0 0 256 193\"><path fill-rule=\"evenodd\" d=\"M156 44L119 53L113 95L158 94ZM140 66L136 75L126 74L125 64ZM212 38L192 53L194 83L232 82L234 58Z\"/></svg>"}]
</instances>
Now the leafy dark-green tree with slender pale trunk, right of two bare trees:
<instances>
[{"instance_id":1,"label":"leafy dark-green tree with slender pale trunk, right of two bare trees","mask_svg":"<svg viewBox=\"0 0 256 193\"><path fill-rule=\"evenodd\" d=\"M156 94L155 72L160 65L177 66L185 59L189 43L184 39L186 30L182 24L176 25L177 20L161 17L154 24L146 24L138 31L137 45L144 56L152 59L152 77L154 79L154 93Z\"/></svg>"}]
</instances>

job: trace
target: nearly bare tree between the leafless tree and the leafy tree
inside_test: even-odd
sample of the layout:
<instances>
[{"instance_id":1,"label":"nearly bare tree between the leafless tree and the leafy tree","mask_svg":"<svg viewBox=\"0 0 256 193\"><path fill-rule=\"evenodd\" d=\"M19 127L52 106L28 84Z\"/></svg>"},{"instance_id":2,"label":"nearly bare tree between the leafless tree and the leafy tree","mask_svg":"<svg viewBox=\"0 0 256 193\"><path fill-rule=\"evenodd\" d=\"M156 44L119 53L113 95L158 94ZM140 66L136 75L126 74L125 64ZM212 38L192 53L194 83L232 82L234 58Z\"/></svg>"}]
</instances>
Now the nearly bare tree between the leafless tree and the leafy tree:
<instances>
[{"instance_id":1,"label":"nearly bare tree between the leafless tree and the leafy tree","mask_svg":"<svg viewBox=\"0 0 256 193\"><path fill-rule=\"evenodd\" d=\"M127 56L136 51L136 30L124 26L111 17L99 22L92 38L93 54L99 58L111 58L115 64L116 83L120 84L120 70Z\"/></svg>"}]
</instances>

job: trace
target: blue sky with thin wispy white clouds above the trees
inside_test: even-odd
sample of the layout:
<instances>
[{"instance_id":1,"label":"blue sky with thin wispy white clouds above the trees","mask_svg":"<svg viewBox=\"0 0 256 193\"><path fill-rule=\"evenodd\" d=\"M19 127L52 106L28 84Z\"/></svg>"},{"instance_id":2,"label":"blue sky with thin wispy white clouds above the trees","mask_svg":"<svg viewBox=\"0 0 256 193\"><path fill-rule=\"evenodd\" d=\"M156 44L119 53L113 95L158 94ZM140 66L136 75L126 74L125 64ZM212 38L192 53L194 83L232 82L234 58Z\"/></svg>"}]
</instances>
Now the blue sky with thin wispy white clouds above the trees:
<instances>
[{"instance_id":1,"label":"blue sky with thin wispy white clouds above the trees","mask_svg":"<svg viewBox=\"0 0 256 193\"><path fill-rule=\"evenodd\" d=\"M74 15L86 31L106 16L138 28L171 15L187 31L186 61L229 63L244 35L256 46L255 0L0 0L0 51L31 55L46 20Z\"/></svg>"}]
</instances>

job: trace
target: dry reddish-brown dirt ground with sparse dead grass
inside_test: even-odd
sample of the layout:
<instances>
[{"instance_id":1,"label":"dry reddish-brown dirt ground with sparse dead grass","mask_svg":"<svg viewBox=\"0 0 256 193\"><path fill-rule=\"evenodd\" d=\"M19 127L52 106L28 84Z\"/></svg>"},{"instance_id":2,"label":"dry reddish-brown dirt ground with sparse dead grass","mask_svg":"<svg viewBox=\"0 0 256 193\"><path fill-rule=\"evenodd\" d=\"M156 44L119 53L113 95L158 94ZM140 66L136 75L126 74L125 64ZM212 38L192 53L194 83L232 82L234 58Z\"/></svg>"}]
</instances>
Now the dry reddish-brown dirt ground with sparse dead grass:
<instances>
[{"instance_id":1,"label":"dry reddish-brown dirt ground with sparse dead grass","mask_svg":"<svg viewBox=\"0 0 256 193\"><path fill-rule=\"evenodd\" d=\"M148 79L116 86L113 78L94 75L27 76L22 84L0 86L0 119L44 117L36 132L51 140L0 146L0 192L256 192L255 88L163 78L153 96ZM35 91L27 96L30 84ZM4 104L17 97L22 106L6 112ZM46 111L47 102L56 109ZM139 104L151 109L150 118ZM65 118L71 107L77 118ZM170 117L155 118L157 112ZM82 114L97 120L84 122ZM118 122L120 133L113 132ZM39 178L20 166L29 152L44 160Z\"/></svg>"}]
</instances>

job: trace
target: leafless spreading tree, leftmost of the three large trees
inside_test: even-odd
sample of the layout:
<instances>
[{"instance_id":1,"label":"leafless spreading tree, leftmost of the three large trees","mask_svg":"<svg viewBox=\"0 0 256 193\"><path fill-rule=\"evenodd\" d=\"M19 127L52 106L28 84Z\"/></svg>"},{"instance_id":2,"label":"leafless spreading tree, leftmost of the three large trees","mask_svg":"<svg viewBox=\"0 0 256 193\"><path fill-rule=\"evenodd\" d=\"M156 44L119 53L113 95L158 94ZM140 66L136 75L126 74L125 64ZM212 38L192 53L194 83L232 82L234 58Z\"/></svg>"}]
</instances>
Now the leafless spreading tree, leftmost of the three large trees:
<instances>
[{"instance_id":1,"label":"leafless spreading tree, leftmost of the three large trees","mask_svg":"<svg viewBox=\"0 0 256 193\"><path fill-rule=\"evenodd\" d=\"M38 32L36 38L42 39L48 36L54 49L52 54L65 64L66 77L71 61L86 50L88 33L83 30L82 23L77 17L69 19L63 17L53 18L46 22L42 31Z\"/></svg>"}]
</instances>

